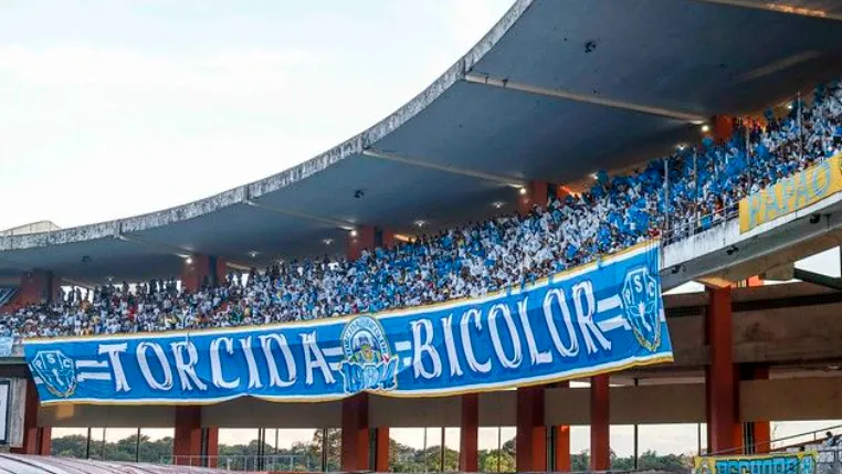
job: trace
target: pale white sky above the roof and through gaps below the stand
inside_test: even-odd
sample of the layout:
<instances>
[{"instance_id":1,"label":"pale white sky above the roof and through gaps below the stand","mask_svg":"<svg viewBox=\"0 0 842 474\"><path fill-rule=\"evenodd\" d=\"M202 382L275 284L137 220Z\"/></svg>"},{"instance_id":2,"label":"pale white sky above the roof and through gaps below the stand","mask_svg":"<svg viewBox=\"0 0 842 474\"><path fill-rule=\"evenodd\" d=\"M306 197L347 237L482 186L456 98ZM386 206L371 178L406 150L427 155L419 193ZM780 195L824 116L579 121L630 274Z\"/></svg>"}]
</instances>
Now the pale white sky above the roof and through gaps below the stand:
<instances>
[{"instance_id":1,"label":"pale white sky above the roof and through gaps below the stand","mask_svg":"<svg viewBox=\"0 0 842 474\"><path fill-rule=\"evenodd\" d=\"M290 168L418 94L511 3L2 1L0 229L149 212ZM815 262L811 270L839 276L838 254ZM829 424L783 423L776 436ZM452 447L456 432L449 430ZM696 449L696 425L641 433L641 451ZM421 430L392 435L423 445ZM504 429L504 441L513 435ZM223 430L220 441L249 436L256 431ZM284 430L280 444L311 436ZM496 436L483 429L481 447L496 446ZM438 444L438 431L429 438ZM588 429L572 439L573 452L587 449ZM613 429L612 447L631 453L631 426Z\"/></svg>"}]
</instances>

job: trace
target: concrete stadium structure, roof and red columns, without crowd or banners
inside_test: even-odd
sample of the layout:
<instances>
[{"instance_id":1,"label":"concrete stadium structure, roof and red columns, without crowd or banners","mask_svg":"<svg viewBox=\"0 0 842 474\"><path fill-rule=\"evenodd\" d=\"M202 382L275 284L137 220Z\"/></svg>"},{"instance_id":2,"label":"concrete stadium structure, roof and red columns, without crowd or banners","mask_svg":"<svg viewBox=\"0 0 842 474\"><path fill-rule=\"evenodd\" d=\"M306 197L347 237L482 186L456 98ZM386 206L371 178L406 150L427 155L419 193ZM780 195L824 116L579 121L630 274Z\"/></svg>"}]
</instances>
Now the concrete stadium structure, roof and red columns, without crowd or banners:
<instances>
[{"instance_id":1,"label":"concrete stadium structure, roof and red columns, without crowd or banners","mask_svg":"<svg viewBox=\"0 0 842 474\"><path fill-rule=\"evenodd\" d=\"M354 259L421 224L445 229L501 207L523 212L597 169L694 143L702 124L725 138L732 116L839 76L840 20L840 7L820 1L520 0L428 89L319 157L173 209L0 235L0 277L17 287L12 307L49 301L62 284L180 275L196 289L230 267L326 251ZM488 424L517 426L518 471L569 470L567 428L578 423L591 426L596 471L610 467L611 423L706 422L708 452L761 452L770 420L842 417L834 396L823 397L842 391L840 379L817 375L842 359L834 343L842 327L828 316L835 294L732 286L838 245L838 198L754 233L732 221L664 245L664 286L708 285L703 295L667 298L669 367L598 375L588 389L558 382L409 400L361 393L303 405L39 409L30 381L15 450L48 454L51 426L168 425L175 459L191 460L214 454L220 426L269 423L341 428L344 470L388 471L389 428L435 420L461 429L460 467L469 472L478 470L478 428ZM833 225L815 227L817 213ZM809 323L792 326L787 316L804 308ZM31 380L22 360L7 362L6 376ZM792 377L799 386L781 381ZM821 389L808 397L806 385Z\"/></svg>"}]
</instances>

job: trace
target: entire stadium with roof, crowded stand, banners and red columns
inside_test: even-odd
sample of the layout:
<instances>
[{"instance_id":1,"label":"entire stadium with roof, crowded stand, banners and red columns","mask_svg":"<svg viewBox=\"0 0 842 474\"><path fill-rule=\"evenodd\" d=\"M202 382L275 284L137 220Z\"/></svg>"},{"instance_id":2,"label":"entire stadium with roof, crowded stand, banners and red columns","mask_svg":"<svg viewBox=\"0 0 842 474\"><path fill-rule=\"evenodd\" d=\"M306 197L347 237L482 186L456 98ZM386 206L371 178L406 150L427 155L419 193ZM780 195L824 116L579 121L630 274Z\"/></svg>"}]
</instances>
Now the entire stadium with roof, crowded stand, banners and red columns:
<instances>
[{"instance_id":1,"label":"entire stadium with roof, crowded stand, banners and red columns","mask_svg":"<svg viewBox=\"0 0 842 474\"><path fill-rule=\"evenodd\" d=\"M400 471L414 426L457 432L460 472L490 470L492 426L516 472L573 470L570 426L594 472L617 425L634 470L655 424L746 463L717 471L796 456L771 423L842 419L842 280L796 266L842 244L840 77L833 1L517 0L294 168L0 233L0 470L128 472L51 456L72 428L90 457L91 426L137 429L138 456L172 429L176 466L137 472L231 468L239 428L323 433L318 465L254 472ZM839 470L819 454L799 470Z\"/></svg>"}]
</instances>

